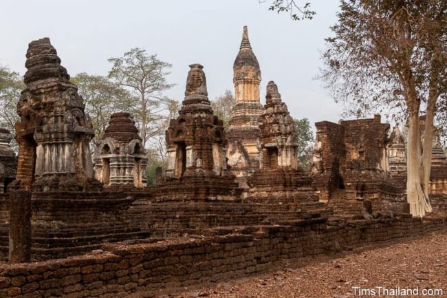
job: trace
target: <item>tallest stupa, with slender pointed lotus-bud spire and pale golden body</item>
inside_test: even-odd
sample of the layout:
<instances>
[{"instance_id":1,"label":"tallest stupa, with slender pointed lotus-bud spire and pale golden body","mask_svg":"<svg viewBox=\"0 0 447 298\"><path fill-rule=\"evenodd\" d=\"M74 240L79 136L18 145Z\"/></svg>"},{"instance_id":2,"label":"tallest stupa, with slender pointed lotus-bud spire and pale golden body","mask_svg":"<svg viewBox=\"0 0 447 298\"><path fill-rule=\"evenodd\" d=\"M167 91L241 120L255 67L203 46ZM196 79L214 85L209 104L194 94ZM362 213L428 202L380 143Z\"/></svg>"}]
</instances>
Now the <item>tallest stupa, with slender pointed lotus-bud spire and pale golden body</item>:
<instances>
[{"instance_id":1,"label":"tallest stupa, with slender pointed lotus-bud spire and pale golden body","mask_svg":"<svg viewBox=\"0 0 447 298\"><path fill-rule=\"evenodd\" d=\"M247 27L243 28L242 42L233 65L235 106L232 107L228 128L228 164L241 187L246 178L259 169L259 128L263 106L259 100L261 70L254 56Z\"/></svg>"}]
</instances>

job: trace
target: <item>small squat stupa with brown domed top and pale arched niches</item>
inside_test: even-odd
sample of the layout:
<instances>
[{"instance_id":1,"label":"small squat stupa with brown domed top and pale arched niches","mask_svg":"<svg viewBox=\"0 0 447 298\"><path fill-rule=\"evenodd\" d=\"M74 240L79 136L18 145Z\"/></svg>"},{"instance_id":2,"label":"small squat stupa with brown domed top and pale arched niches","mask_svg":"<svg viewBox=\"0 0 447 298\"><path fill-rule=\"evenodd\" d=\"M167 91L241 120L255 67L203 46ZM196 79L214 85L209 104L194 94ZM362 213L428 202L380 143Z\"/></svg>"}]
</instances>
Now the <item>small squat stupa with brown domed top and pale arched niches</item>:
<instances>
[{"instance_id":1,"label":"small squat stupa with brown domed top and pale arched niches","mask_svg":"<svg viewBox=\"0 0 447 298\"><path fill-rule=\"evenodd\" d=\"M131 114L112 114L96 148L96 179L105 187L145 187L146 164L147 157Z\"/></svg>"}]
</instances>

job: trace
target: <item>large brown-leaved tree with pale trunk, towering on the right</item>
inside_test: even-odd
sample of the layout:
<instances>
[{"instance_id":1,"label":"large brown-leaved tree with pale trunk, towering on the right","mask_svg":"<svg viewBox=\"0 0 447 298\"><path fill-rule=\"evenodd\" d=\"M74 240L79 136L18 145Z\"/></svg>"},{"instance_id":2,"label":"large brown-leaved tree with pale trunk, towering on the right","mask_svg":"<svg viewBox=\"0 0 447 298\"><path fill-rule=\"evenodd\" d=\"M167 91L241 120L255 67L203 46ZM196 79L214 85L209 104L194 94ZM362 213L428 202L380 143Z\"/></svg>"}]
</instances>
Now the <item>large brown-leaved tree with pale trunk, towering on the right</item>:
<instances>
[{"instance_id":1,"label":"large brown-leaved tree with pale trunk, towering on the right","mask_svg":"<svg viewBox=\"0 0 447 298\"><path fill-rule=\"evenodd\" d=\"M447 89L447 2L342 0L323 55L322 77L336 100L358 111L403 111L408 123L407 200L413 215L428 200L433 119ZM425 107L424 143L419 115Z\"/></svg>"}]
</instances>

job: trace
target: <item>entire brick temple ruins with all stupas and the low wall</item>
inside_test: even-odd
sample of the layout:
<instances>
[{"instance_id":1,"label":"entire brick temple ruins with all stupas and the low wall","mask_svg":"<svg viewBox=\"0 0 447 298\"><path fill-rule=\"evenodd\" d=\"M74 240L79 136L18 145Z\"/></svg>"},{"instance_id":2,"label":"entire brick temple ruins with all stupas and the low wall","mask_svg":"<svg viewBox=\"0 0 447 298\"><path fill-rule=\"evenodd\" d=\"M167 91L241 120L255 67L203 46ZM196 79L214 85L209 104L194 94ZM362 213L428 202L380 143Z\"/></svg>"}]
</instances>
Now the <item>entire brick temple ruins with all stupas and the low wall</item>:
<instances>
[{"instance_id":1,"label":"entire brick temple ruins with all stupas and the low wall","mask_svg":"<svg viewBox=\"0 0 447 298\"><path fill-rule=\"evenodd\" d=\"M83 98L50 39L30 43L26 66L17 180L5 175L0 193L0 262L10 263L1 265L0 297L171 294L446 231L447 213L408 213L404 138L398 129L389 137L378 115L316 123L312 172L299 169L296 127L273 81L260 103L261 72L246 28L228 139L204 67L192 64L179 116L166 131L168 168L155 187L144 185L144 148L129 113L111 116L94 171ZM10 137L0 131L8 175ZM435 211L446 206L446 173L435 145Z\"/></svg>"}]
</instances>

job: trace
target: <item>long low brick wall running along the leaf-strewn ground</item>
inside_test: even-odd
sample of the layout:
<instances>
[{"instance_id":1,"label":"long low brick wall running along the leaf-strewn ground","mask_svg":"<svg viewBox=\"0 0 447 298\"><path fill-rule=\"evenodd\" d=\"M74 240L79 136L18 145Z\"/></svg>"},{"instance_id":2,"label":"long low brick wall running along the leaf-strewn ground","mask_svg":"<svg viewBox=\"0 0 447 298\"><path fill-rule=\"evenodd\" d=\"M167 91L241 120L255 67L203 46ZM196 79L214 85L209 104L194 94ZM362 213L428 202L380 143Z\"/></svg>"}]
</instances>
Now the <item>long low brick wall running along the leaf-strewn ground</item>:
<instances>
[{"instance_id":1,"label":"long low brick wall running along the leaf-strewn ground","mask_svg":"<svg viewBox=\"0 0 447 298\"><path fill-rule=\"evenodd\" d=\"M297 259L446 228L444 219L412 217L347 222L296 220L233 228L223 235L107 244L102 253L1 266L0 297L122 297L223 281Z\"/></svg>"}]
</instances>

